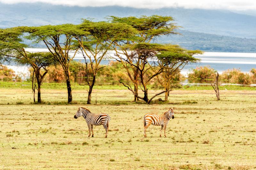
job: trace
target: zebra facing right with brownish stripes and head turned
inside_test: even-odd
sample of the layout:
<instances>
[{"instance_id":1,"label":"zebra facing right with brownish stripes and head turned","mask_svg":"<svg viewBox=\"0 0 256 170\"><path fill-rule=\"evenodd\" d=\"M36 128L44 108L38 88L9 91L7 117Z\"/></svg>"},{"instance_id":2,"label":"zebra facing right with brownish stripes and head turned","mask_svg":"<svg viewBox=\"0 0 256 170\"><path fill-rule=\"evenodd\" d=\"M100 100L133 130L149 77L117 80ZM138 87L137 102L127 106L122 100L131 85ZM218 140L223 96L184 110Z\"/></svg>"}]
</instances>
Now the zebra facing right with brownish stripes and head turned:
<instances>
[{"instance_id":1,"label":"zebra facing right with brownish stripes and head turned","mask_svg":"<svg viewBox=\"0 0 256 170\"><path fill-rule=\"evenodd\" d=\"M164 128L164 136L165 135L165 130L166 126L169 122L169 120L172 118L174 119L174 108L170 108L167 112L161 115L156 115L156 114L145 114L144 116L144 137L147 137L146 135L146 129L149 127L149 125L155 125L155 126L160 126L161 125L161 132L160 132L160 137L162 137L162 130Z\"/></svg>"}]
</instances>

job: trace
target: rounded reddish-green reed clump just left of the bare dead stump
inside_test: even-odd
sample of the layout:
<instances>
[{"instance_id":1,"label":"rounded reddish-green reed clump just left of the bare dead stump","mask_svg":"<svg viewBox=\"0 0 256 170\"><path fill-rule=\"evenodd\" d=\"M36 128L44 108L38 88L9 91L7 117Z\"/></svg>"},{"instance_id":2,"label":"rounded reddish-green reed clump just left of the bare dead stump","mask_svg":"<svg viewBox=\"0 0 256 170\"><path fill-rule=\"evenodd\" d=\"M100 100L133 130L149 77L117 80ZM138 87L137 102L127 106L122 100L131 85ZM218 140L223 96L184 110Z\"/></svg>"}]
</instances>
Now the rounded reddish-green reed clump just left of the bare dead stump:
<instances>
[{"instance_id":1,"label":"rounded reddish-green reed clump just left of the bare dead stump","mask_svg":"<svg viewBox=\"0 0 256 170\"><path fill-rule=\"evenodd\" d=\"M192 70L191 73L188 74L188 80L194 81L198 79L214 79L215 72L216 70L214 70L210 66L196 67Z\"/></svg>"}]
</instances>

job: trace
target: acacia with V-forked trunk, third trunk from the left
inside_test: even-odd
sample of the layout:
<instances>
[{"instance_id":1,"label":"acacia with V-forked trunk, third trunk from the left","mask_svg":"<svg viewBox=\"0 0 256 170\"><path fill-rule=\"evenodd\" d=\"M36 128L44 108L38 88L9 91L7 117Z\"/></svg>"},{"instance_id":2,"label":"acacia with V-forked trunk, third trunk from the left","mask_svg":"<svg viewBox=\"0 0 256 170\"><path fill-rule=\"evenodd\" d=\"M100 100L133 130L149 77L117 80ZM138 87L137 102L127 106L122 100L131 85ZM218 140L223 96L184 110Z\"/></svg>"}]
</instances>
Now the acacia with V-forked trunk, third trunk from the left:
<instances>
[{"instance_id":1,"label":"acacia with V-forked trunk, third trunk from the left","mask_svg":"<svg viewBox=\"0 0 256 170\"><path fill-rule=\"evenodd\" d=\"M134 36L136 30L124 23L92 22L86 19L78 27L84 32L83 35L76 35L75 38L86 64L85 74L89 85L87 104L91 104L96 75L104 67L100 66L100 62L106 57L113 43ZM92 80L89 79L88 64L92 69Z\"/></svg>"}]
</instances>

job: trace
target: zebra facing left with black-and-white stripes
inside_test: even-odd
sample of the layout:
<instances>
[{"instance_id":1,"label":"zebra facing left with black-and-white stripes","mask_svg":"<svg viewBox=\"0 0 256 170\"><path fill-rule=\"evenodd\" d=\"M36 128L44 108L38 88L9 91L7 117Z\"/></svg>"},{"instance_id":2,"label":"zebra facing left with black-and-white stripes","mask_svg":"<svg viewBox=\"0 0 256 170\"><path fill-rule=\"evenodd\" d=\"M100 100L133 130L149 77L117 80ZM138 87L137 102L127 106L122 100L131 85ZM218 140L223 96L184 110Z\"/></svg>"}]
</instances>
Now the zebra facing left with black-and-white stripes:
<instances>
[{"instance_id":1,"label":"zebra facing left with black-and-white stripes","mask_svg":"<svg viewBox=\"0 0 256 170\"><path fill-rule=\"evenodd\" d=\"M103 127L106 130L105 137L108 136L108 124L110 121L110 116L107 113L94 114L84 107L79 107L74 118L77 119L80 116L83 116L87 122L88 130L89 130L88 137L91 136L91 129L92 129L92 137L93 137L93 125L95 126L103 125Z\"/></svg>"}]
</instances>

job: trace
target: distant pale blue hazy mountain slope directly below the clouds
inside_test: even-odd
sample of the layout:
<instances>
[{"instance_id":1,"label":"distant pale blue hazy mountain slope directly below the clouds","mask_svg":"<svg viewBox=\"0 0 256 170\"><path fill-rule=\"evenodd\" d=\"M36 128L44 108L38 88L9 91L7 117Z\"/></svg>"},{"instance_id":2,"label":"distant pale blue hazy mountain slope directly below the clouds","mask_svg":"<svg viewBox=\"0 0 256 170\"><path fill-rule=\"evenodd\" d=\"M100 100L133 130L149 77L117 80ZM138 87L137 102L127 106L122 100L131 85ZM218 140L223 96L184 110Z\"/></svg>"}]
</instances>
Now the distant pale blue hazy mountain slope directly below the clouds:
<instances>
[{"instance_id":1,"label":"distant pale blue hazy mountain slope directly below the clouds","mask_svg":"<svg viewBox=\"0 0 256 170\"><path fill-rule=\"evenodd\" d=\"M79 23L81 18L103 20L107 15L171 15L185 30L217 35L256 38L256 17L220 10L163 8L135 9L118 6L70 7L49 4L0 4L0 27Z\"/></svg>"}]
</instances>

